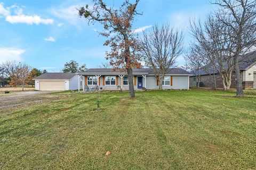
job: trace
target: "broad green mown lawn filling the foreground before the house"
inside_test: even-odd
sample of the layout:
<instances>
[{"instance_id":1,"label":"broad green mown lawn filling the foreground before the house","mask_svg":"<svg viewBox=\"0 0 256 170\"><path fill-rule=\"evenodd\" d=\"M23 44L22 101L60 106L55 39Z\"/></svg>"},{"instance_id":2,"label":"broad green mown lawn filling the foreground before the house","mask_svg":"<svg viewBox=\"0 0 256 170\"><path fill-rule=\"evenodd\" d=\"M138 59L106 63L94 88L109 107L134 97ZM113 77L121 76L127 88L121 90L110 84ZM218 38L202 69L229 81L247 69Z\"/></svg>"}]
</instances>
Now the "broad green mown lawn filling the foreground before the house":
<instances>
[{"instance_id":1,"label":"broad green mown lawn filling the foreground before the house","mask_svg":"<svg viewBox=\"0 0 256 170\"><path fill-rule=\"evenodd\" d=\"M0 169L255 169L256 95L136 95L102 93L96 110L97 94L73 94L0 115Z\"/></svg>"}]
</instances>

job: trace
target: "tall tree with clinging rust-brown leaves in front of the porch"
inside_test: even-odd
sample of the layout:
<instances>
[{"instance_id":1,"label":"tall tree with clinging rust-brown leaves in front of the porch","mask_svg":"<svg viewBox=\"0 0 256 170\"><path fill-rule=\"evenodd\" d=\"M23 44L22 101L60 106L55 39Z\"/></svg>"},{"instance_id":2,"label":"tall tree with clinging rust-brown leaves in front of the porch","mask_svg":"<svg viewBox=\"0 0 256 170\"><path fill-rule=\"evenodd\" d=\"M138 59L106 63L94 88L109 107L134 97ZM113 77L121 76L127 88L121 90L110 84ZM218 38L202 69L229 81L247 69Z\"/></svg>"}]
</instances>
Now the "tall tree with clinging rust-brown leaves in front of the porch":
<instances>
[{"instance_id":1,"label":"tall tree with clinging rust-brown leaves in front of the porch","mask_svg":"<svg viewBox=\"0 0 256 170\"><path fill-rule=\"evenodd\" d=\"M140 68L141 64L137 34L132 31L135 15L139 14L136 7L139 0L131 3L125 0L121 7L108 7L102 0L93 0L94 5L83 6L79 9L79 16L88 22L99 22L105 31L102 36L110 37L104 45L110 46L111 51L106 53L114 68L127 71L131 98L135 97L132 68Z\"/></svg>"}]
</instances>

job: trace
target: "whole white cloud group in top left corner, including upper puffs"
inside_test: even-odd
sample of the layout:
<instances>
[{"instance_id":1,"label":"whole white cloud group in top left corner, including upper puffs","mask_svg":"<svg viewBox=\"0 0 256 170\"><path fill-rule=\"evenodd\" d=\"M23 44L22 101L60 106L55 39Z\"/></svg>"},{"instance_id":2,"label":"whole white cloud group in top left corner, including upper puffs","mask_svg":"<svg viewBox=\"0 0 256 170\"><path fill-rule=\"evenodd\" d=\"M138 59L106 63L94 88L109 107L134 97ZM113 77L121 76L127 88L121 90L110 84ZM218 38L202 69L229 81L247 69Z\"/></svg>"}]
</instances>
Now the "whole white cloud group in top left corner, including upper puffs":
<instances>
[{"instance_id":1,"label":"whole white cloud group in top left corner, including upper puffs","mask_svg":"<svg viewBox=\"0 0 256 170\"><path fill-rule=\"evenodd\" d=\"M5 17L5 21L10 23L26 23L28 25L39 25L42 23L50 25L54 22L53 19L43 19L38 15L25 15L18 5L12 5L5 8L3 3L0 3L0 17L1 15Z\"/></svg>"}]
</instances>

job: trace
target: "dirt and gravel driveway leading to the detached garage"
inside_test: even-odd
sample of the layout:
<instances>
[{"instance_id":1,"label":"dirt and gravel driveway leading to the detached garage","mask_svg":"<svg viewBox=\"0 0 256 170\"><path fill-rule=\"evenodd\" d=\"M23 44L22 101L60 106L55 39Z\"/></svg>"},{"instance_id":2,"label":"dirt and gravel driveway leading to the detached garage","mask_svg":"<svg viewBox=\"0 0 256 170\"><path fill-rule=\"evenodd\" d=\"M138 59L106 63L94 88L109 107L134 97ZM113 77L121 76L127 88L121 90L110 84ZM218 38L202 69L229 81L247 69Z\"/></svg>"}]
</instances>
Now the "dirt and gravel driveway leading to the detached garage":
<instances>
[{"instance_id":1,"label":"dirt and gravel driveway leading to the detached garage","mask_svg":"<svg viewBox=\"0 0 256 170\"><path fill-rule=\"evenodd\" d=\"M0 114L8 110L63 98L63 95L49 95L49 93L52 92L28 91L0 95Z\"/></svg>"}]
</instances>

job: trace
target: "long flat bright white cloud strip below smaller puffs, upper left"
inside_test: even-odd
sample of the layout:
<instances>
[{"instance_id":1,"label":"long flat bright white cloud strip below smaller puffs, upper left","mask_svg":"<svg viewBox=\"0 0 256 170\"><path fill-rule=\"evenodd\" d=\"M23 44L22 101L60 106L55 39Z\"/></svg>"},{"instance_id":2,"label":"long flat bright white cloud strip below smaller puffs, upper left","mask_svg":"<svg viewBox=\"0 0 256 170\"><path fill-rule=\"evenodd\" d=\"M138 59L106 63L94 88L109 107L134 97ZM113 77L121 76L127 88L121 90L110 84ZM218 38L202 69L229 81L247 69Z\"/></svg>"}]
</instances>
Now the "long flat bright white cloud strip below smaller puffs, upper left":
<instances>
[{"instance_id":1,"label":"long flat bright white cloud strip below smaller puffs, upper left","mask_svg":"<svg viewBox=\"0 0 256 170\"><path fill-rule=\"evenodd\" d=\"M6 21L10 23L27 23L28 25L39 25L40 23L49 25L52 24L54 21L53 19L42 19L38 15L8 15L5 18Z\"/></svg>"}]
</instances>

